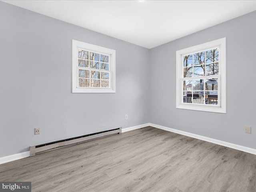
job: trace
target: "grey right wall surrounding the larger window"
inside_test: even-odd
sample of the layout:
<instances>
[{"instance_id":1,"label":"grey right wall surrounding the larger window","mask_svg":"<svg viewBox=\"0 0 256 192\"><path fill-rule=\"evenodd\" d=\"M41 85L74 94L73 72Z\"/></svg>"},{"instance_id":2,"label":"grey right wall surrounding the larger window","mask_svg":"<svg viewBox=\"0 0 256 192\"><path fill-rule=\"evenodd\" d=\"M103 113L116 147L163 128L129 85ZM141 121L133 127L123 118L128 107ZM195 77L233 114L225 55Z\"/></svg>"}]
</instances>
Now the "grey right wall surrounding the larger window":
<instances>
[{"instance_id":1,"label":"grey right wall surrounding the larger window","mask_svg":"<svg viewBox=\"0 0 256 192\"><path fill-rule=\"evenodd\" d=\"M150 50L150 122L256 149L256 12ZM226 37L227 113L176 109L176 51ZM252 134L245 133L252 126Z\"/></svg>"}]
</instances>

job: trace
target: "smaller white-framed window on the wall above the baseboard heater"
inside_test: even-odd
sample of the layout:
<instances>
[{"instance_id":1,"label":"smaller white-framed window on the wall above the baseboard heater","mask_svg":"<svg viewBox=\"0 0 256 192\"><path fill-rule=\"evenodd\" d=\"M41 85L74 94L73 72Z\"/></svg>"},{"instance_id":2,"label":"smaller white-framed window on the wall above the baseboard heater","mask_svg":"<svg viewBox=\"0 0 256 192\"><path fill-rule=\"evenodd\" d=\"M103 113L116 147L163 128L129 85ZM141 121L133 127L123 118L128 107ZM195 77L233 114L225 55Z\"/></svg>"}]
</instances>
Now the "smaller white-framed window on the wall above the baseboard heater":
<instances>
[{"instance_id":1,"label":"smaller white-framed window on the wall above the baseboard heater","mask_svg":"<svg viewBox=\"0 0 256 192\"><path fill-rule=\"evenodd\" d=\"M115 93L116 51L72 40L72 92Z\"/></svg>"}]
</instances>

